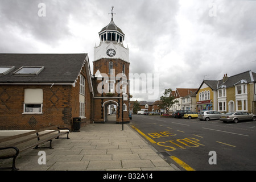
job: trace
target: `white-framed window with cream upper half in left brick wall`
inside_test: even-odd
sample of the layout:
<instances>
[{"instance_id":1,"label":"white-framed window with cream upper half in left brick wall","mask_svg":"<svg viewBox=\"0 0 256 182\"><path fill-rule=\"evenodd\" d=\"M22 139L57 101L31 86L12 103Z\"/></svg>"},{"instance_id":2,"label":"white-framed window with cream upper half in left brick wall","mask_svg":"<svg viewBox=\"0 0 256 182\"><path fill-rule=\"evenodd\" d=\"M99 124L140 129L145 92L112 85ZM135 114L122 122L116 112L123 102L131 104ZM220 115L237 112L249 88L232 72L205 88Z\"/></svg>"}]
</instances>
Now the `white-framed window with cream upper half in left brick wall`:
<instances>
[{"instance_id":1,"label":"white-framed window with cream upper half in left brick wall","mask_svg":"<svg viewBox=\"0 0 256 182\"><path fill-rule=\"evenodd\" d=\"M42 114L43 89L24 90L24 114Z\"/></svg>"}]
</instances>

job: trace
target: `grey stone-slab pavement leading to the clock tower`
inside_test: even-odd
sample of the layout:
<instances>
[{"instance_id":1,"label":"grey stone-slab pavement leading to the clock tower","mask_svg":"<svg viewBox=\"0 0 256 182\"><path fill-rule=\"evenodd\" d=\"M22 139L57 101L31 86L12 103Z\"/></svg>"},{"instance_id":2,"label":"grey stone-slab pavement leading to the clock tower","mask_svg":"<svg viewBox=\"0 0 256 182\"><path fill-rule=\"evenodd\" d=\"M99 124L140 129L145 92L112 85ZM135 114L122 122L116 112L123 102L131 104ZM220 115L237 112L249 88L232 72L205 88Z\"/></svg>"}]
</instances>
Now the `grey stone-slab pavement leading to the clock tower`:
<instances>
[{"instance_id":1,"label":"grey stone-slab pavement leading to the clock tower","mask_svg":"<svg viewBox=\"0 0 256 182\"><path fill-rule=\"evenodd\" d=\"M53 149L38 148L20 152L16 167L20 171L176 171L155 148L134 131L130 124L89 124L70 139L54 139ZM46 143L48 146L48 142ZM46 152L46 163L39 151ZM0 160L10 167L12 159Z\"/></svg>"}]
</instances>

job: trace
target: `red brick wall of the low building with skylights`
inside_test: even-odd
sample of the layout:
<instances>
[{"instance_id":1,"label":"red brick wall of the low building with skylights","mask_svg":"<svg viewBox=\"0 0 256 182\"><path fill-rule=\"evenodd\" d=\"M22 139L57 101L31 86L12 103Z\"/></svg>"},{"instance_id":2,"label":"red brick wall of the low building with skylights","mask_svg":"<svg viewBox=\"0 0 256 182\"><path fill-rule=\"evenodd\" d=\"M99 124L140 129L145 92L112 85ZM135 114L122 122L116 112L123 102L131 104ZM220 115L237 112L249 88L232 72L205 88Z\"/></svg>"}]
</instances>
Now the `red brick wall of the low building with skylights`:
<instances>
[{"instance_id":1,"label":"red brick wall of the low building with skylights","mask_svg":"<svg viewBox=\"0 0 256 182\"><path fill-rule=\"evenodd\" d=\"M84 69L84 68L83 68ZM85 117L81 126L92 118L92 97L85 77ZM72 118L79 117L80 77L72 85L1 85L0 130L32 130L49 125L61 125L72 129ZM43 114L23 114L24 89L43 89Z\"/></svg>"}]
</instances>

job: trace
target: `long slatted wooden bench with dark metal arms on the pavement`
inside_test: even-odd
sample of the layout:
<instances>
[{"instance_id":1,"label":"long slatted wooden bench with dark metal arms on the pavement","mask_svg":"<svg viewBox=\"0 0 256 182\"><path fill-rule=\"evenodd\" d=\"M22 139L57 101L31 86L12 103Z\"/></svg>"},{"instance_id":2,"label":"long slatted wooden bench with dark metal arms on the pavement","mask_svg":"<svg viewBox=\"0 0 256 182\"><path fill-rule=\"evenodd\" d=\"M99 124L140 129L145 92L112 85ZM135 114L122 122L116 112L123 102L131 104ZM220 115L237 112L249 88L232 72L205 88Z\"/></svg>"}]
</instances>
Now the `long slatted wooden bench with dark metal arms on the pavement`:
<instances>
[{"instance_id":1,"label":"long slatted wooden bench with dark metal arms on the pavement","mask_svg":"<svg viewBox=\"0 0 256 182\"><path fill-rule=\"evenodd\" d=\"M62 131L61 130L68 130ZM39 148L40 144L50 142L49 148L52 148L52 139L58 139L61 135L69 134L68 128L60 128L58 126L51 126L40 130L30 131L23 134L14 135L0 139L0 159L13 158L13 166L0 169L19 170L15 167L15 160L19 152L28 150L30 148ZM40 147L42 148L42 147ZM47 147L48 148L48 147Z\"/></svg>"}]
</instances>

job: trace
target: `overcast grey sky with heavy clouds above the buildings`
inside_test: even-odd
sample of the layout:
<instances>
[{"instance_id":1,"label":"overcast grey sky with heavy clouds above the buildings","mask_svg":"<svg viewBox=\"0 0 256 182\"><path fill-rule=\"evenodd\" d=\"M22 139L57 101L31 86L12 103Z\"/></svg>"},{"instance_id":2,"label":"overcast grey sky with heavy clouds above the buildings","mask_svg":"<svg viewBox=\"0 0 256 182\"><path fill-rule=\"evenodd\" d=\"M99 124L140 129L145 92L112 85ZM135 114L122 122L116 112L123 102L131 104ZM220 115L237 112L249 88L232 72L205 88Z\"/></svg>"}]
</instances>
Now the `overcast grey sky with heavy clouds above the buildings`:
<instances>
[{"instance_id":1,"label":"overcast grey sky with heavy clouds above the buildings","mask_svg":"<svg viewBox=\"0 0 256 182\"><path fill-rule=\"evenodd\" d=\"M253 0L0 0L0 52L88 53L93 68L111 6L130 49L130 73L158 74L159 97L167 88L199 88L204 78L256 72Z\"/></svg>"}]
</instances>

